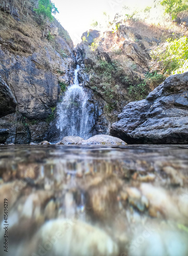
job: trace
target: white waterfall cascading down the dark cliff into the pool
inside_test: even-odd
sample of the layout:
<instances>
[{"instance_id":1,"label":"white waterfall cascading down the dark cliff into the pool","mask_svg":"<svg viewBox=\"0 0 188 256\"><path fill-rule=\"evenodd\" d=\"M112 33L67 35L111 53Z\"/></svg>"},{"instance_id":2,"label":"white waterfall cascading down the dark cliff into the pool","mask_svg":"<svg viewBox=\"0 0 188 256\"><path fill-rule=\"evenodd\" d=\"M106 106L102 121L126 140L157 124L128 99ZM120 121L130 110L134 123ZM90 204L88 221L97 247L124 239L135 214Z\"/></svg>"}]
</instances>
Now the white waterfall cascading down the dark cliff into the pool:
<instances>
[{"instance_id":1,"label":"white waterfall cascading down the dark cliff into the pool","mask_svg":"<svg viewBox=\"0 0 188 256\"><path fill-rule=\"evenodd\" d=\"M79 136L85 138L88 132L89 112L87 110L87 94L82 86L79 86L77 73L79 66L74 71L74 83L67 89L63 101L58 105L57 127L61 131L61 137Z\"/></svg>"}]
</instances>

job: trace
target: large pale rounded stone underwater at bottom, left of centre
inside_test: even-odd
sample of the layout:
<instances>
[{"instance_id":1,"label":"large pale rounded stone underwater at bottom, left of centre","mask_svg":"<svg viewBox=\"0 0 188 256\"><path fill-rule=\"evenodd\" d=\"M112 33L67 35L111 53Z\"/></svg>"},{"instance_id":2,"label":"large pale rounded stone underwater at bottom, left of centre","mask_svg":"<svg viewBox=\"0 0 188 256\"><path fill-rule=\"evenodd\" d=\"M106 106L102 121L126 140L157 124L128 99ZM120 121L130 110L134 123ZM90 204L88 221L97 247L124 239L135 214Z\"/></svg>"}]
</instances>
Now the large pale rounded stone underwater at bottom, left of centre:
<instances>
[{"instance_id":1,"label":"large pale rounded stone underwater at bottom, left of centre","mask_svg":"<svg viewBox=\"0 0 188 256\"><path fill-rule=\"evenodd\" d=\"M43 247L46 256L60 256L62 252L71 256L118 255L116 243L104 231L69 219L53 220L43 225L24 253L26 256L40 254Z\"/></svg>"}]
</instances>

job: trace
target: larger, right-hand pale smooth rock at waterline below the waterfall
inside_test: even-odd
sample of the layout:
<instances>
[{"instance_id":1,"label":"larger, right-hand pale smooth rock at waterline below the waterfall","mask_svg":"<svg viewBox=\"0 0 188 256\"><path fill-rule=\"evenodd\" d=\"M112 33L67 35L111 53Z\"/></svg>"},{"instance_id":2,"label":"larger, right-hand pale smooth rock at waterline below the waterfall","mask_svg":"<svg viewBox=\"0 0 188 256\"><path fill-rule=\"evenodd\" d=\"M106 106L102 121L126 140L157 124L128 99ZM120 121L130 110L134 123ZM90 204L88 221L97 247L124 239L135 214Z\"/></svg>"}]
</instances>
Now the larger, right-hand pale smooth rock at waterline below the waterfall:
<instances>
[{"instance_id":1,"label":"larger, right-hand pale smooth rock at waterline below the waterfall","mask_svg":"<svg viewBox=\"0 0 188 256\"><path fill-rule=\"evenodd\" d=\"M95 135L87 140L84 140L82 145L126 145L123 140L110 135Z\"/></svg>"}]
</instances>

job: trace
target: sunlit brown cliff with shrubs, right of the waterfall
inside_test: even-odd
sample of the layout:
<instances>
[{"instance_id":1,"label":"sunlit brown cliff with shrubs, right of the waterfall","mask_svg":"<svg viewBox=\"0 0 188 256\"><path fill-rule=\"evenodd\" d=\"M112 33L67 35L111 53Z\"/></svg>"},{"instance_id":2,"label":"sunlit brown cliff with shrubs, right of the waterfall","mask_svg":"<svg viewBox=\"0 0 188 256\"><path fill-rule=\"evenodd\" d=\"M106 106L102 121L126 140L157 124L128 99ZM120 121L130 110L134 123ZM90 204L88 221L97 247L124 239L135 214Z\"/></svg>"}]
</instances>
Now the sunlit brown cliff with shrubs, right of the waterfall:
<instances>
[{"instance_id":1,"label":"sunlit brown cliff with shrubs, right of the waterfall","mask_svg":"<svg viewBox=\"0 0 188 256\"><path fill-rule=\"evenodd\" d=\"M95 125L97 134L109 134L123 106L151 91L143 80L150 71L150 49L161 36L161 31L156 33L142 22L119 22L115 31L89 30L83 34L76 48L79 79L103 105Z\"/></svg>"}]
</instances>

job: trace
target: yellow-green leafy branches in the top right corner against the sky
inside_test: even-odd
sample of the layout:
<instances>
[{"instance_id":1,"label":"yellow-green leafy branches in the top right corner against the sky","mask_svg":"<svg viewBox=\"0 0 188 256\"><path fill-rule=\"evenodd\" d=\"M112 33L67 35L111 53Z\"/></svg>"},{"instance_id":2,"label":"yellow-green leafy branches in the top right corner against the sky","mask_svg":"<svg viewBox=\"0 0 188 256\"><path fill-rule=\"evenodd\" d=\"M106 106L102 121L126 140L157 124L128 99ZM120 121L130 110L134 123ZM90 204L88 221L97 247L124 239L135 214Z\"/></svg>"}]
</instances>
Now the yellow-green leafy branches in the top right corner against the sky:
<instances>
[{"instance_id":1,"label":"yellow-green leafy branches in the top right corner against the sky","mask_svg":"<svg viewBox=\"0 0 188 256\"><path fill-rule=\"evenodd\" d=\"M172 20L176 19L179 12L188 9L188 5L183 4L182 0L163 0L160 4L166 7L165 12L170 15Z\"/></svg>"}]
</instances>

